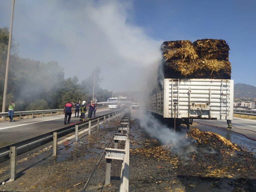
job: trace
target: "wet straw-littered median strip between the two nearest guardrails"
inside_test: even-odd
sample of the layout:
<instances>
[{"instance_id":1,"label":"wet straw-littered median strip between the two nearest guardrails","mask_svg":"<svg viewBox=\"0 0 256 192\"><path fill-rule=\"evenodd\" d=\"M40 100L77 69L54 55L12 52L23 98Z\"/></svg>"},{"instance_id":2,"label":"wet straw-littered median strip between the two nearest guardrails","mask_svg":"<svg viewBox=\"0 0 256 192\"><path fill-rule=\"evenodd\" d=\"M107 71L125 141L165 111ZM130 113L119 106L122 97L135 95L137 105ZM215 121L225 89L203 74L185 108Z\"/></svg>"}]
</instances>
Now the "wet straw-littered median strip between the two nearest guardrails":
<instances>
[{"instance_id":1,"label":"wet straw-littered median strip between the two nearest guardrails","mask_svg":"<svg viewBox=\"0 0 256 192\"><path fill-rule=\"evenodd\" d=\"M58 139L58 155L52 156L52 146L44 145L17 159L17 180L0 184L0 191L79 191L89 178L104 148L120 122L117 118L88 135L88 126L81 129L78 143L74 134ZM80 131L80 132L81 132ZM72 137L72 138L70 138ZM64 140L63 140L64 139ZM114 144L111 146L113 147ZM102 164L105 162L102 161ZM0 165L0 182L9 177L9 161ZM104 165L102 165L104 167ZM96 176L99 176L96 173ZM103 178L103 177L101 177ZM76 185L78 184L78 185ZM74 186L75 185L75 186Z\"/></svg>"}]
</instances>

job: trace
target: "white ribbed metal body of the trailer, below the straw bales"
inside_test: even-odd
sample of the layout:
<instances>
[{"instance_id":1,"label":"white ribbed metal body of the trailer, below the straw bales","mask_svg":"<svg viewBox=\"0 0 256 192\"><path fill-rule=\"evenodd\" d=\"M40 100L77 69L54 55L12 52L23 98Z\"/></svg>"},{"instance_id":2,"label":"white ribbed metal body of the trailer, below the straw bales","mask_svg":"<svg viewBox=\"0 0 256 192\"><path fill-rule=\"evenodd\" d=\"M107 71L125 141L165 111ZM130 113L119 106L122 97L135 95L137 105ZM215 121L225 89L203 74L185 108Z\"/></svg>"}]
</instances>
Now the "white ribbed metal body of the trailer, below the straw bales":
<instances>
[{"instance_id":1,"label":"white ribbed metal body of the trailer, below the straw bales","mask_svg":"<svg viewBox=\"0 0 256 192\"><path fill-rule=\"evenodd\" d=\"M164 79L164 90L147 100L147 110L164 118L233 119L234 81Z\"/></svg>"}]
</instances>

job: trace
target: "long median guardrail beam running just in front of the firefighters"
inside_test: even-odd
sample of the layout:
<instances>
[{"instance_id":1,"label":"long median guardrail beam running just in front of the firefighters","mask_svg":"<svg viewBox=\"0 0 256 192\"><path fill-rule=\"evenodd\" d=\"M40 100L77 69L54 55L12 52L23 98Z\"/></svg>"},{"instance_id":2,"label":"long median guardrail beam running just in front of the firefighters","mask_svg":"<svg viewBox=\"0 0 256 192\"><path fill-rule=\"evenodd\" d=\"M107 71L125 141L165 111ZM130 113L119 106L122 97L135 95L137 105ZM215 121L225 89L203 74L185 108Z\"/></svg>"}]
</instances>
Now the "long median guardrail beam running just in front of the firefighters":
<instances>
[{"instance_id":1,"label":"long median guardrail beam running just in front of the firefighters","mask_svg":"<svg viewBox=\"0 0 256 192\"><path fill-rule=\"evenodd\" d=\"M81 129L82 126L85 126L85 125L89 124L89 134L90 134L90 132L91 132L90 127L91 127L92 122L97 122L97 124L98 124L97 127L99 127L99 122L103 119L105 120L106 116L108 116L109 119L110 119L110 117L112 117L112 120L113 120L113 118L116 117L116 114L117 115L120 114L121 111L123 111L123 110L124 109L121 109L121 110L116 111L116 112L108 113L108 114L99 116L97 118L93 118L93 119L85 121L85 122L77 123L76 125L78 127L80 127L80 129ZM55 130L55 131L51 131L51 132L48 132L48 133L45 133L45 134L42 134L42 135L38 135L36 137L26 139L24 141L20 141L20 142L17 142L17 143L13 143L13 144L1 147L0 148L0 163L9 159L10 147L12 147L12 146L15 146L17 148L17 155L20 155L22 153L25 153L25 152L30 151L30 150L38 147L38 146L44 145L44 144L49 143L50 141L52 141L54 132L57 132L57 135L58 135L58 138L59 138L59 137L62 137L62 136L65 136L69 133L74 132L75 127L76 127L75 125L70 125L70 126Z\"/></svg>"}]
</instances>

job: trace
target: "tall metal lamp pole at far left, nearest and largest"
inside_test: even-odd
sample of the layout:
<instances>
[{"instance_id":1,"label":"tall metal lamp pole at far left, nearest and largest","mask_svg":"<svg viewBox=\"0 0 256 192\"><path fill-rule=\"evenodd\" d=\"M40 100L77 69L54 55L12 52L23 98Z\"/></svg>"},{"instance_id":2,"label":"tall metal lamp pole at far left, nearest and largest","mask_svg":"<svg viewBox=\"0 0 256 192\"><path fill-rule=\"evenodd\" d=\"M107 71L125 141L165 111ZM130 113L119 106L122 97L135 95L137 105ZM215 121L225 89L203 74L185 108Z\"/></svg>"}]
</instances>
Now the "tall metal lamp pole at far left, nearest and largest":
<instances>
[{"instance_id":1,"label":"tall metal lamp pole at far left, nearest and largest","mask_svg":"<svg viewBox=\"0 0 256 192\"><path fill-rule=\"evenodd\" d=\"M3 97L3 108L2 112L5 112L6 105L6 96L7 96L7 83L8 83L8 72L9 72L9 61L10 61L10 52L12 44L12 31L13 31L13 12L14 12L14 1L12 7L11 23L10 23L10 32L9 32L9 43L8 43L8 52L7 52L7 61L6 61L6 71L5 71L5 81L4 81L4 97Z\"/></svg>"}]
</instances>

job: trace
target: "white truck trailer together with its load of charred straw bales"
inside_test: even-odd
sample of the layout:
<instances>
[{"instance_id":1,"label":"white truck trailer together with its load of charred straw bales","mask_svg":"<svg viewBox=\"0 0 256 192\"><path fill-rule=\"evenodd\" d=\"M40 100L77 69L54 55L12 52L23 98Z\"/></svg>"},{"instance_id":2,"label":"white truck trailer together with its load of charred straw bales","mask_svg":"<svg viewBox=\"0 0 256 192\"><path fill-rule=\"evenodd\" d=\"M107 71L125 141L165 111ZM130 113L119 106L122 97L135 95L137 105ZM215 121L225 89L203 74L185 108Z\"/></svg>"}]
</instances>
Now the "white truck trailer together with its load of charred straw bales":
<instances>
[{"instance_id":1,"label":"white truck trailer together with its load of charred straw bales","mask_svg":"<svg viewBox=\"0 0 256 192\"><path fill-rule=\"evenodd\" d=\"M234 81L225 40L165 41L161 49L159 87L147 98L147 115L188 128L193 119L233 120Z\"/></svg>"}]
</instances>

